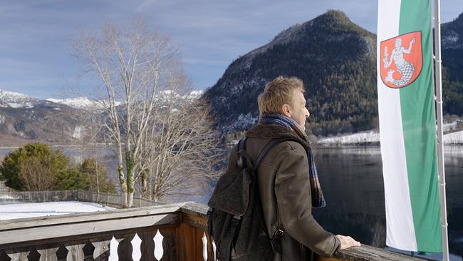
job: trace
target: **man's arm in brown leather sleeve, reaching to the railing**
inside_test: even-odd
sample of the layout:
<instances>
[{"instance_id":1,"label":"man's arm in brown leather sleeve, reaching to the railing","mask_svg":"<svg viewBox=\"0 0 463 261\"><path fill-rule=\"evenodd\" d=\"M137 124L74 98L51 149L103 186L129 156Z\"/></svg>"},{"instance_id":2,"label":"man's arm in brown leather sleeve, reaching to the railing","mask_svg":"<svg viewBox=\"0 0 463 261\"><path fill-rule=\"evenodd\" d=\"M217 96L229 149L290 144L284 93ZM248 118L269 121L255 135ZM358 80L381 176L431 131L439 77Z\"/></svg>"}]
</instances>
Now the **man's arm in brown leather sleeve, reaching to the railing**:
<instances>
[{"instance_id":1,"label":"man's arm in brown leather sleeve, reaching to the railing","mask_svg":"<svg viewBox=\"0 0 463 261\"><path fill-rule=\"evenodd\" d=\"M305 150L286 150L281 155L283 157L276 173L275 193L283 227L291 237L318 255L333 255L340 241L313 218Z\"/></svg>"}]
</instances>

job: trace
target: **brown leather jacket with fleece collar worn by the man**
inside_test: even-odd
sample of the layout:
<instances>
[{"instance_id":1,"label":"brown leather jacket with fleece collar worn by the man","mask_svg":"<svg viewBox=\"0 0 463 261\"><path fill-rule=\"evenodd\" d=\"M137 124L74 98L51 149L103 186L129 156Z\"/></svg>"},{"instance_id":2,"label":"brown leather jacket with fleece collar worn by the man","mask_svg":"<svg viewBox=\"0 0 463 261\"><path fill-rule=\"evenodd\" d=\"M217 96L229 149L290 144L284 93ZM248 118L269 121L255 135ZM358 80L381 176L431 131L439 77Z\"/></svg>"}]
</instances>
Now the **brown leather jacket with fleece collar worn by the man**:
<instances>
[{"instance_id":1,"label":"brown leather jacket with fleece collar worn by the man","mask_svg":"<svg viewBox=\"0 0 463 261\"><path fill-rule=\"evenodd\" d=\"M296 141L279 143L257 169L267 232L273 235L279 224L283 224L285 230L281 238L281 255L274 255L274 261L313 260L312 251L324 257L333 255L338 250L339 240L312 216L308 143L293 131L277 125L254 126L246 137L249 137L246 152L254 162L271 138L293 137L303 144ZM234 165L236 147L230 153L229 168Z\"/></svg>"}]
</instances>

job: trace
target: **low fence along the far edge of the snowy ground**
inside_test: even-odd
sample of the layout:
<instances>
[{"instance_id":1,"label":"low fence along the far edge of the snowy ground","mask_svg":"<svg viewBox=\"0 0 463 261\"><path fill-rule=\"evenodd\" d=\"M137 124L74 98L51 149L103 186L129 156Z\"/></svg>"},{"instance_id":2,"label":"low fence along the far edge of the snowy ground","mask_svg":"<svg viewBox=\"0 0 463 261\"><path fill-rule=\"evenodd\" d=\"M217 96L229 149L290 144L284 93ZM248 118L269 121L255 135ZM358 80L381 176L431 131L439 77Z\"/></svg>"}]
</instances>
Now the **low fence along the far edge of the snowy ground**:
<instances>
[{"instance_id":1,"label":"low fence along the far edge of the snowy ground","mask_svg":"<svg viewBox=\"0 0 463 261\"><path fill-rule=\"evenodd\" d=\"M47 190L47 191L10 191L0 192L0 205L14 203L41 203L56 201L86 201L109 205L120 206L120 195L110 193L96 193L88 190ZM161 205L153 200L145 198L133 198L132 207L149 207Z\"/></svg>"}]
</instances>

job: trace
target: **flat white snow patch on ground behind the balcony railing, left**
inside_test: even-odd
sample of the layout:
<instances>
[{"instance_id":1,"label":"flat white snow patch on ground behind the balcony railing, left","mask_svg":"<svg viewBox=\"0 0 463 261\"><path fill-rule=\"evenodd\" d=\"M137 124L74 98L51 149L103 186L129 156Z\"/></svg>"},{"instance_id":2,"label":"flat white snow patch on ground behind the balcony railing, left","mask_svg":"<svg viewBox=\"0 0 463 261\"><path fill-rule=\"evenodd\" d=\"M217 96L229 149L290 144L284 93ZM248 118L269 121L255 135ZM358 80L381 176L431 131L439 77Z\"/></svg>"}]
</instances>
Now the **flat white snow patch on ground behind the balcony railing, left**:
<instances>
[{"instance_id":1,"label":"flat white snow patch on ground behind the balcony railing, left","mask_svg":"<svg viewBox=\"0 0 463 261\"><path fill-rule=\"evenodd\" d=\"M0 220L77 214L113 209L96 203L79 201L6 204L0 205Z\"/></svg>"}]
</instances>

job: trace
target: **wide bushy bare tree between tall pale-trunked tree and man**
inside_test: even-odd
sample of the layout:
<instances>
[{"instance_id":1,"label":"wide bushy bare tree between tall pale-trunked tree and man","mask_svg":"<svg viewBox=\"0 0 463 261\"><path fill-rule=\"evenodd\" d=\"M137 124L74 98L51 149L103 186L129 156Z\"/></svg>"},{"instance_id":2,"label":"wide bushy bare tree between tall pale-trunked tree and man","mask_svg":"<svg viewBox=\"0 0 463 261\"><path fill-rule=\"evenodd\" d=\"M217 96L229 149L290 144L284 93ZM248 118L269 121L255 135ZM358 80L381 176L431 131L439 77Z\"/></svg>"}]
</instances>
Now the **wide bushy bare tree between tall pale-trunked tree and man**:
<instances>
[{"instance_id":1,"label":"wide bushy bare tree between tall pale-trunked tree and man","mask_svg":"<svg viewBox=\"0 0 463 261\"><path fill-rule=\"evenodd\" d=\"M191 195L219 175L223 160L217 133L212 131L209 111L202 101L170 99L153 123L141 165L141 190L145 198Z\"/></svg>"}]
</instances>

